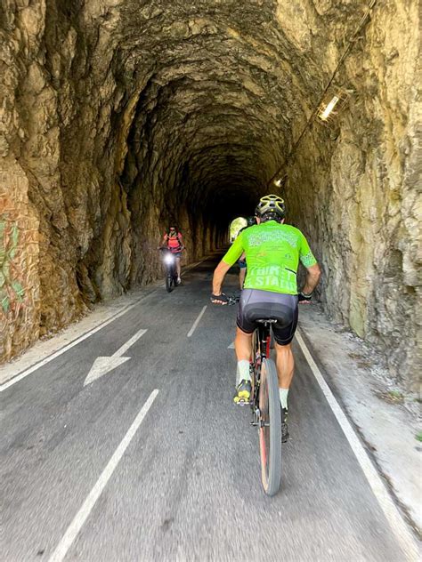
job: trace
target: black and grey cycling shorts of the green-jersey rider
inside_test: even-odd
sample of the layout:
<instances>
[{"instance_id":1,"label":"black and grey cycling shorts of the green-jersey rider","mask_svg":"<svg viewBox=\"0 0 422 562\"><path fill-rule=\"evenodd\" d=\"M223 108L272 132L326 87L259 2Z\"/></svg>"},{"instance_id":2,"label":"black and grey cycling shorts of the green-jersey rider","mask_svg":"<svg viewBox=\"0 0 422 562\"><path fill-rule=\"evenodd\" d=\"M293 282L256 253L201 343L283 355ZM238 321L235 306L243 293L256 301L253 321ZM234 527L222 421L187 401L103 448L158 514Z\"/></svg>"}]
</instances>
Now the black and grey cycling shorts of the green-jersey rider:
<instances>
[{"instance_id":1,"label":"black and grey cycling shorts of the green-jersey rider","mask_svg":"<svg viewBox=\"0 0 422 562\"><path fill-rule=\"evenodd\" d=\"M272 324L275 341L288 345L296 332L297 316L296 294L243 289L236 323L242 332L253 333L256 320L273 318L277 320Z\"/></svg>"}]
</instances>

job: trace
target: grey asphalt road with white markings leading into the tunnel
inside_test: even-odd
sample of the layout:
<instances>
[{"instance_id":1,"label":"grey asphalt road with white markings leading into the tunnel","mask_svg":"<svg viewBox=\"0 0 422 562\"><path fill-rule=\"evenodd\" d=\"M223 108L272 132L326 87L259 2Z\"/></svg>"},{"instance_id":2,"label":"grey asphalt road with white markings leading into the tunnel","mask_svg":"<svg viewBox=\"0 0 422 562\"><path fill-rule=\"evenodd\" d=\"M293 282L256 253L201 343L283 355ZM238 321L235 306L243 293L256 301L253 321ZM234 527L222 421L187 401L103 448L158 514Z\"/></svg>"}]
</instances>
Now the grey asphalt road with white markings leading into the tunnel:
<instances>
[{"instance_id":1,"label":"grey asphalt road with white markings leading into the tunnel","mask_svg":"<svg viewBox=\"0 0 422 562\"><path fill-rule=\"evenodd\" d=\"M282 488L264 495L249 410L231 402L236 307L208 300L214 266L0 395L1 560L408 559L297 346ZM84 386L140 329L131 358Z\"/></svg>"}]
</instances>

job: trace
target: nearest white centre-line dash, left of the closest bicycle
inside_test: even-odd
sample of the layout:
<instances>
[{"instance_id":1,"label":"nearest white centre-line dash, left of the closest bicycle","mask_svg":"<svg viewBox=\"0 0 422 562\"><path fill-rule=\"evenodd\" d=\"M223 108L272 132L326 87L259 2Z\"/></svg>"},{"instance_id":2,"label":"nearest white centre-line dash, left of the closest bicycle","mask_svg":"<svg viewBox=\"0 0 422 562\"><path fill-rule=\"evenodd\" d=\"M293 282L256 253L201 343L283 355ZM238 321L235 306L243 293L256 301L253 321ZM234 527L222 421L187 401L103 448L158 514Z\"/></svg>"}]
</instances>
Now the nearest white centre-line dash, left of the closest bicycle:
<instances>
[{"instance_id":1,"label":"nearest white centre-line dash, left of the closest bicycle","mask_svg":"<svg viewBox=\"0 0 422 562\"><path fill-rule=\"evenodd\" d=\"M118 448L110 458L110 461L107 463L105 469L102 470L100 478L98 478L98 480L95 482L93 489L87 495L85 502L82 504L80 510L77 511L77 514L70 523L68 529L66 530L66 533L61 537L61 542L59 542L59 544L57 545L56 550L54 550L49 562L61 562L61 560L66 556L70 546L72 545L72 542L74 542L77 534L81 530L86 519L89 517L89 514L93 510L95 502L98 500L102 493L102 490L105 488L105 486L107 486L111 475L118 466L118 462L120 462L120 459L125 454L127 446L134 438L134 434L143 422L145 415L148 413L157 395L158 389L152 390L152 392L150 393L150 397L142 406L141 412L138 413L138 415L134 419L134 422L127 430L126 436L120 442Z\"/></svg>"}]
</instances>

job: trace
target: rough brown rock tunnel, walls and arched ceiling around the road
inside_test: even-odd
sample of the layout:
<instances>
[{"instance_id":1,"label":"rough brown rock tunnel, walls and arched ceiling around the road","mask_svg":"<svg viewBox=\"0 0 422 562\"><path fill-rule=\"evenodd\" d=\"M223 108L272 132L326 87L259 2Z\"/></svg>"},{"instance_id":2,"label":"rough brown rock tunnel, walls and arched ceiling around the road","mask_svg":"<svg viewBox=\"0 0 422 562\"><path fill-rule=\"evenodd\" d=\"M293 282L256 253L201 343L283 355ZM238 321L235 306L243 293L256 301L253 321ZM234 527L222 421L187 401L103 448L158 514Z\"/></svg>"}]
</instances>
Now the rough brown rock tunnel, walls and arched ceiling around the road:
<instances>
[{"instance_id":1,"label":"rough brown rock tunnel, walls and arched ceiling around the road","mask_svg":"<svg viewBox=\"0 0 422 562\"><path fill-rule=\"evenodd\" d=\"M327 316L415 389L417 4L3 3L0 357L155 281L170 222L192 263L275 193Z\"/></svg>"}]
</instances>

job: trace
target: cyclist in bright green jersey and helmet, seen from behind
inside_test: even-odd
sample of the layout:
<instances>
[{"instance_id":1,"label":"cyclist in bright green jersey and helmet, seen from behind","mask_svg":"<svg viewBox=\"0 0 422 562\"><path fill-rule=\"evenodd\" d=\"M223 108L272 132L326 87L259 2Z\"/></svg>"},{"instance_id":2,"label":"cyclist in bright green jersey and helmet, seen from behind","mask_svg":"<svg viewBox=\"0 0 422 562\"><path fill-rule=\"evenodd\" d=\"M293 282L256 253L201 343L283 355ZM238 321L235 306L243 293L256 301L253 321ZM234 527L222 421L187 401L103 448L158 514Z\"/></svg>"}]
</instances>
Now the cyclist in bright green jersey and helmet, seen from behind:
<instances>
[{"instance_id":1,"label":"cyclist in bright green jersey and helmet, seen from behind","mask_svg":"<svg viewBox=\"0 0 422 562\"><path fill-rule=\"evenodd\" d=\"M288 440L288 389L295 367L291 341L297 325L297 303L312 299L321 276L320 266L306 238L299 229L284 224L285 214L286 207L281 197L269 195L261 198L256 207L256 226L241 232L218 264L211 295L215 304L227 304L228 299L221 291L223 279L245 253L248 273L237 317L237 387L233 400L236 404L244 404L250 397L249 361L256 320L275 318L277 323L272 328L277 353L283 442ZM307 269L307 275L302 292L297 294L299 261Z\"/></svg>"}]
</instances>

